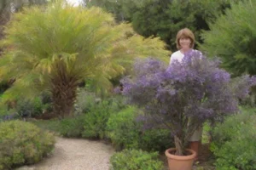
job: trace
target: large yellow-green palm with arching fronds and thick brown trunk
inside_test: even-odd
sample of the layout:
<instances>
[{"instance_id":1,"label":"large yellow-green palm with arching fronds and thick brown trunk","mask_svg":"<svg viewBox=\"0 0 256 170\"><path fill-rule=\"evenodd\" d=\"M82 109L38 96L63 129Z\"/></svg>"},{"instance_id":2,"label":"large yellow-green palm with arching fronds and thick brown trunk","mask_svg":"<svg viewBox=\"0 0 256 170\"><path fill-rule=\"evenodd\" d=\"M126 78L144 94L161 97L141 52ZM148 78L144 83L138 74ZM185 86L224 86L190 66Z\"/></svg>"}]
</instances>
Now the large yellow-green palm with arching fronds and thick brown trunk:
<instances>
[{"instance_id":1,"label":"large yellow-green palm with arching fronds and thick brown trunk","mask_svg":"<svg viewBox=\"0 0 256 170\"><path fill-rule=\"evenodd\" d=\"M143 39L131 26L116 25L101 8L63 3L15 14L6 35L0 77L16 82L5 96L49 89L59 116L71 114L79 82L96 80L107 88L108 79L123 73L135 57L168 55L158 38Z\"/></svg>"}]
</instances>

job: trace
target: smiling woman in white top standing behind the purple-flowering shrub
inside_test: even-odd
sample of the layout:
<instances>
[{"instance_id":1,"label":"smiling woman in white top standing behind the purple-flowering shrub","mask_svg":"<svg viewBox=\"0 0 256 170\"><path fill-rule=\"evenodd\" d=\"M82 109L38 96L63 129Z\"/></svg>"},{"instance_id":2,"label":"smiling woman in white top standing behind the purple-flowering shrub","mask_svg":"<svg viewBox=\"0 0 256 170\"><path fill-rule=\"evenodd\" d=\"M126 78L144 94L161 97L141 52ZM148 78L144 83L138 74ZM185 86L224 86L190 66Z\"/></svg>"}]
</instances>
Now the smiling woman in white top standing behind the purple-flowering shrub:
<instances>
[{"instance_id":1,"label":"smiling woman in white top standing behind the purple-flowering shrub","mask_svg":"<svg viewBox=\"0 0 256 170\"><path fill-rule=\"evenodd\" d=\"M190 31L188 28L183 28L182 30L178 31L176 37L176 44L178 51L171 55L170 65L174 60L181 62L185 53L189 52L190 50L195 50L193 49L195 45L195 36L193 32ZM195 160L198 159L199 145L201 143L201 133L202 128L199 127L195 130L195 133L193 133L193 135L189 139L189 148L191 150L195 150L196 152Z\"/></svg>"}]
</instances>

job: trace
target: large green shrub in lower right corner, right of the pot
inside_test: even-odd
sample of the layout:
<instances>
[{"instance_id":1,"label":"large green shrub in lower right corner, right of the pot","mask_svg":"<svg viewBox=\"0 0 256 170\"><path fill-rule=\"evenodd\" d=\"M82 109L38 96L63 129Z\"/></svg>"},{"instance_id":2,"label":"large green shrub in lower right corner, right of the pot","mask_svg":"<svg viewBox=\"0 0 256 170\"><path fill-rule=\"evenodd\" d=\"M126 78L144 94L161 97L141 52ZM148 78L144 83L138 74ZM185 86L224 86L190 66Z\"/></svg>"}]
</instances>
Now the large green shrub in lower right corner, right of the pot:
<instances>
[{"instance_id":1,"label":"large green shrub in lower right corner, right of the pot","mask_svg":"<svg viewBox=\"0 0 256 170\"><path fill-rule=\"evenodd\" d=\"M243 109L213 130L211 150L219 170L256 169L256 110Z\"/></svg>"}]
</instances>

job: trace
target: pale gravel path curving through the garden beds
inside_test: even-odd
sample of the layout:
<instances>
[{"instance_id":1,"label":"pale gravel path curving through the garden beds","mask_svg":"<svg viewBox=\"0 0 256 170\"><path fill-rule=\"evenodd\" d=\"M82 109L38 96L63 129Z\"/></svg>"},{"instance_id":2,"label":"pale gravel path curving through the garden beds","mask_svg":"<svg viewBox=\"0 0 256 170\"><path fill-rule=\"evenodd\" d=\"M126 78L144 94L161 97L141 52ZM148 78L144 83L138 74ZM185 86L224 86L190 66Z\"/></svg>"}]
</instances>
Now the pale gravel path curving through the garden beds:
<instances>
[{"instance_id":1,"label":"pale gravel path curving through the garden beds","mask_svg":"<svg viewBox=\"0 0 256 170\"><path fill-rule=\"evenodd\" d=\"M52 155L16 170L108 170L113 153L110 145L99 141L57 138Z\"/></svg>"}]
</instances>

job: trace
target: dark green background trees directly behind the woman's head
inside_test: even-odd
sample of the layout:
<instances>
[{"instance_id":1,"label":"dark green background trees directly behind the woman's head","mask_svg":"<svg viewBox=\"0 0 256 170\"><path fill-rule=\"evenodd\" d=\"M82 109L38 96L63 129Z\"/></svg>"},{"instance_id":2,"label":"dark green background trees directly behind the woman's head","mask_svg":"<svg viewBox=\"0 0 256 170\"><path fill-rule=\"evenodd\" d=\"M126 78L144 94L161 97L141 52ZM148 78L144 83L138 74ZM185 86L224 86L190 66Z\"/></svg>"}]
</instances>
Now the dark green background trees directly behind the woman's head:
<instances>
[{"instance_id":1,"label":"dark green background trees directly behind the woman's head","mask_svg":"<svg viewBox=\"0 0 256 170\"><path fill-rule=\"evenodd\" d=\"M161 37L173 51L176 50L177 31L189 27L195 32L196 39L202 42L199 35L201 30L209 30L207 20L216 20L218 14L230 7L230 0L84 1L88 6L99 6L113 13L117 20L131 22L134 30L144 37Z\"/></svg>"}]
</instances>

